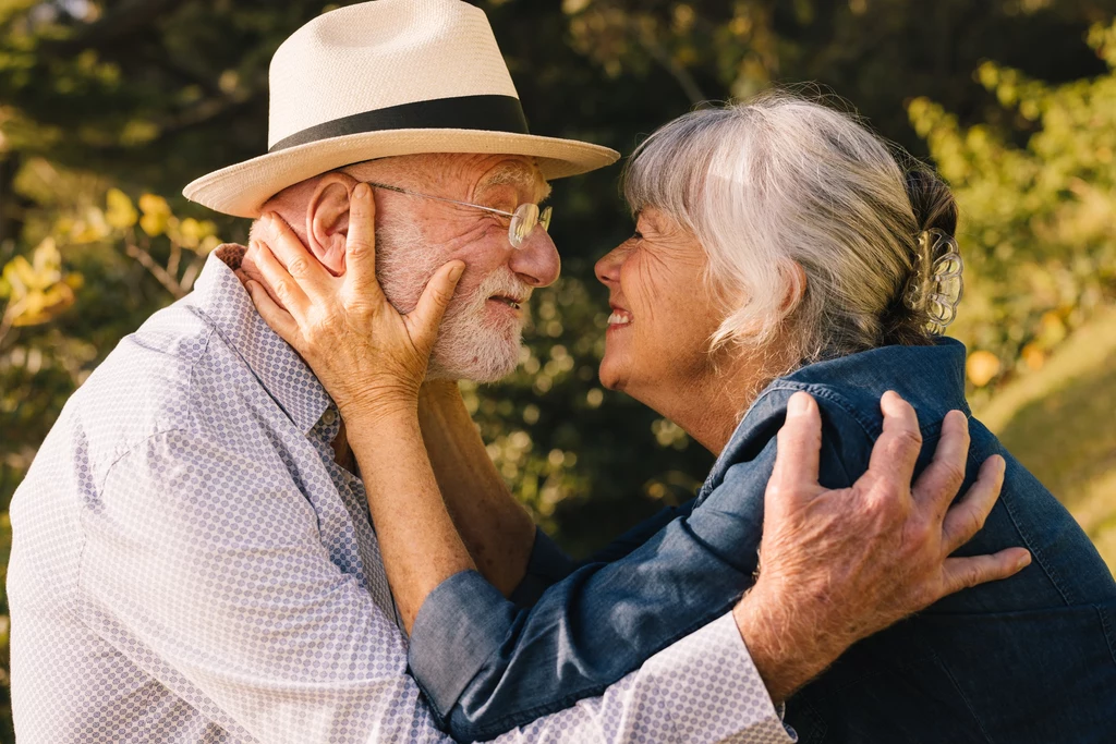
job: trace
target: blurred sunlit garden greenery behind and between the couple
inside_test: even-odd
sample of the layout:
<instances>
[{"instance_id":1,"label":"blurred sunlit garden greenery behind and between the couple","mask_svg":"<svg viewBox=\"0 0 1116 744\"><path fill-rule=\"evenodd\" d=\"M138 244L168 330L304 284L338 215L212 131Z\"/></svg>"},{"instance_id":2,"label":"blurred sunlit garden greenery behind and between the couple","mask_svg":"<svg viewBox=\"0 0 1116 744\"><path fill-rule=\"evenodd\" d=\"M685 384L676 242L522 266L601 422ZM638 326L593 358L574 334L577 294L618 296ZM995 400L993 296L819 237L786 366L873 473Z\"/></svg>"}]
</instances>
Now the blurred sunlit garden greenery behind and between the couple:
<instances>
[{"instance_id":1,"label":"blurred sunlit garden greenery behind and between the couple","mask_svg":"<svg viewBox=\"0 0 1116 744\"><path fill-rule=\"evenodd\" d=\"M343 3L345 4L345 3ZM627 154L704 100L817 81L927 157L963 218L977 415L1116 566L1116 0L503 0L491 18L531 128ZM0 506L68 396L190 291L247 222L182 186L261 154L267 65L336 6L0 0ZM595 257L626 236L617 170L557 184L564 279L522 365L465 392L539 521L584 553L687 499L711 457L600 389ZM10 525L0 516L7 563ZM7 603L0 606L7 719Z\"/></svg>"}]
</instances>

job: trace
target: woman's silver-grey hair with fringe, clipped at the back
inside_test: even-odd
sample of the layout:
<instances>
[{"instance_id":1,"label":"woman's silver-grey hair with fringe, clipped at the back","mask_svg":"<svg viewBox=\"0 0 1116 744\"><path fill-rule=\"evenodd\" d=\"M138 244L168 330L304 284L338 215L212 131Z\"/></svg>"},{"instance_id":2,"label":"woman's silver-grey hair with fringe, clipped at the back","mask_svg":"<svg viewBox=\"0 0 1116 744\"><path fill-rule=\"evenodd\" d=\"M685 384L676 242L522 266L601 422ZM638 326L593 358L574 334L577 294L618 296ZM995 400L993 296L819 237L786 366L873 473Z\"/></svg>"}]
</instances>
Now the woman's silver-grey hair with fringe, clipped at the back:
<instances>
[{"instance_id":1,"label":"woman's silver-grey hair with fringe, clipped at the back","mask_svg":"<svg viewBox=\"0 0 1116 744\"><path fill-rule=\"evenodd\" d=\"M636 148L623 184L634 212L665 212L709 254L725 309L712 348L786 330L810 363L930 342L925 253L942 241L920 233L953 244L956 204L929 166L853 116L786 91L695 110ZM788 308L791 290L801 300Z\"/></svg>"}]
</instances>

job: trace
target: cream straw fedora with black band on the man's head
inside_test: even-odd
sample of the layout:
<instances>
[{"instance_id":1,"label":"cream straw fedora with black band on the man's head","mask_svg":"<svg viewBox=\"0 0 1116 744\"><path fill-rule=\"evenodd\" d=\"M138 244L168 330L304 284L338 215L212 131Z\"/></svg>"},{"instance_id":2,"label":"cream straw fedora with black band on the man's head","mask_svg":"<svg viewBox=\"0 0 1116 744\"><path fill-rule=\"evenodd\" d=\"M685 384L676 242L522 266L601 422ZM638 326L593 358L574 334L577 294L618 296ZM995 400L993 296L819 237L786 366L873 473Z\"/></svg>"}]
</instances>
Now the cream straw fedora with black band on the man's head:
<instances>
[{"instance_id":1,"label":"cream straw fedora with black band on the man's head","mask_svg":"<svg viewBox=\"0 0 1116 744\"><path fill-rule=\"evenodd\" d=\"M537 158L548 180L619 153L527 129L484 12L461 0L374 0L324 13L271 58L268 152L214 171L186 199L242 218L287 186L392 155Z\"/></svg>"}]
</instances>

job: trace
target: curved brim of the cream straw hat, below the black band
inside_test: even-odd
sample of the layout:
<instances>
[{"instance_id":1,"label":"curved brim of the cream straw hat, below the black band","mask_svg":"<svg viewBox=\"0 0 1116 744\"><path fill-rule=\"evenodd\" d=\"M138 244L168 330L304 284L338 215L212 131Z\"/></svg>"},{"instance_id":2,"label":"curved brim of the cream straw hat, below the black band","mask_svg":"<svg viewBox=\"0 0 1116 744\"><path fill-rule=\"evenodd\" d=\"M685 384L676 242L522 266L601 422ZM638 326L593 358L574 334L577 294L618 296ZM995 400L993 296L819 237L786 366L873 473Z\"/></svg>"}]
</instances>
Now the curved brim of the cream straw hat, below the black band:
<instances>
[{"instance_id":1,"label":"curved brim of the cream straw hat, below the black band","mask_svg":"<svg viewBox=\"0 0 1116 744\"><path fill-rule=\"evenodd\" d=\"M238 218L258 218L287 186L379 157L422 153L482 153L538 158L548 181L612 165L619 153L576 139L480 129L391 129L309 142L203 175L182 190L199 204Z\"/></svg>"}]
</instances>

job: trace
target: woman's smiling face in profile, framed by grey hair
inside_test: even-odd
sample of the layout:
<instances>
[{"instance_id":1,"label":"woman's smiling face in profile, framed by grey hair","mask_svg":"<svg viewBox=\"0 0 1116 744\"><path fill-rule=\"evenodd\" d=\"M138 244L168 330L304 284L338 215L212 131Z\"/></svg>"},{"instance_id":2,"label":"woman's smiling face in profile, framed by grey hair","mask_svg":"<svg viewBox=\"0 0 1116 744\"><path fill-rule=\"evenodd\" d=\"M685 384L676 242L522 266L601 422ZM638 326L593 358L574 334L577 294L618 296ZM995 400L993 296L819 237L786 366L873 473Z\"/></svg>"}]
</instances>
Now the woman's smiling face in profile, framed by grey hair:
<instances>
[{"instance_id":1,"label":"woman's smiling face in profile, framed by grey hair","mask_svg":"<svg viewBox=\"0 0 1116 744\"><path fill-rule=\"evenodd\" d=\"M643 210L635 234L596 265L612 315L600 381L663 410L711 369L721 316L698 240L666 214Z\"/></svg>"}]
</instances>

